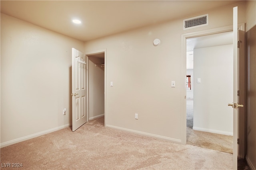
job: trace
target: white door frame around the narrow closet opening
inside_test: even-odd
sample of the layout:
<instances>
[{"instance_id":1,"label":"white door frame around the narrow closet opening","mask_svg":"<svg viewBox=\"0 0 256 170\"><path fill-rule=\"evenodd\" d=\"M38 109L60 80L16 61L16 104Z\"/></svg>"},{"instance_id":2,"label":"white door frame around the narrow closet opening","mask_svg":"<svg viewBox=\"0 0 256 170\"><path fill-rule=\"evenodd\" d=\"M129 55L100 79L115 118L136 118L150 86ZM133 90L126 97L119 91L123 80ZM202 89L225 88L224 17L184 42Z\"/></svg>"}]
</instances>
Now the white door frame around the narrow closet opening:
<instances>
[{"instance_id":1,"label":"white door frame around the narrow closet opening","mask_svg":"<svg viewBox=\"0 0 256 170\"><path fill-rule=\"evenodd\" d=\"M104 53L104 126L107 125L107 93L106 93L106 80L107 80L107 49L100 49L95 51L88 51L84 53L86 55L86 62L89 63L89 55L95 55L99 53ZM89 71L87 67L87 121L89 121Z\"/></svg>"}]
</instances>

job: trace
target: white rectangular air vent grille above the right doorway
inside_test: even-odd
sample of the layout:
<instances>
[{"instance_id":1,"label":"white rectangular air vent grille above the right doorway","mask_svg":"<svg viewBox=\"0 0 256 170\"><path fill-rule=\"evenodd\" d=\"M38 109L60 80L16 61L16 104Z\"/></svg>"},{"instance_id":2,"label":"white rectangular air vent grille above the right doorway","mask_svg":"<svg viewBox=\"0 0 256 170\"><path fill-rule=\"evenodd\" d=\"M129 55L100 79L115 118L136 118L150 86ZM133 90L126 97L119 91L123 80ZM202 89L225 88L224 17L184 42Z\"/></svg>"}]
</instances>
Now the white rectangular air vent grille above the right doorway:
<instances>
[{"instance_id":1,"label":"white rectangular air vent grille above the right doorway","mask_svg":"<svg viewBox=\"0 0 256 170\"><path fill-rule=\"evenodd\" d=\"M183 29L190 29L208 25L208 14L183 20Z\"/></svg>"}]
</instances>

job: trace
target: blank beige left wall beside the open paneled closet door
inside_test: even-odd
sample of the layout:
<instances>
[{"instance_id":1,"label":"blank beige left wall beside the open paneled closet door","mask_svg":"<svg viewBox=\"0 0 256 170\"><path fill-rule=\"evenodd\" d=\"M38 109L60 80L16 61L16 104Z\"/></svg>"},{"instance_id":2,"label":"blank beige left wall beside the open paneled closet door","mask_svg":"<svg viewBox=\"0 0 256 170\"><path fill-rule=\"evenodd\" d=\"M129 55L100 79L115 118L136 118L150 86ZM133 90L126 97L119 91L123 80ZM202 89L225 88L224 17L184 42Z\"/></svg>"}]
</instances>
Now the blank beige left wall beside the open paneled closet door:
<instances>
[{"instance_id":1,"label":"blank beige left wall beside the open paneled closet door","mask_svg":"<svg viewBox=\"0 0 256 170\"><path fill-rule=\"evenodd\" d=\"M83 45L1 13L1 147L71 125L72 47Z\"/></svg>"}]
</instances>

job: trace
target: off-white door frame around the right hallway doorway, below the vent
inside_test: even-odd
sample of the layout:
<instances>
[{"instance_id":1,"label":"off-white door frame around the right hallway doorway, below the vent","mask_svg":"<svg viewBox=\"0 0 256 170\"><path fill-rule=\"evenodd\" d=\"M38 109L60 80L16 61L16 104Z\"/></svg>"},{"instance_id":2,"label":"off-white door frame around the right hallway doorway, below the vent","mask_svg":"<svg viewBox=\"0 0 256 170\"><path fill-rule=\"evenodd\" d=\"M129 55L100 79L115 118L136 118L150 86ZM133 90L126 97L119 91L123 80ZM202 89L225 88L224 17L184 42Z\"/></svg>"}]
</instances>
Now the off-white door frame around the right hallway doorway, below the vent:
<instances>
[{"instance_id":1,"label":"off-white door frame around the right hallway doorway, below the vent","mask_svg":"<svg viewBox=\"0 0 256 170\"><path fill-rule=\"evenodd\" d=\"M242 31L245 31L245 23L239 23L238 28ZM200 37L204 35L213 35L217 33L224 33L224 32L229 32L233 31L233 25L225 26L225 27L218 27L214 29L206 29L203 31L196 31L196 32L191 32L191 33L186 33L181 35L181 42L182 42L182 64L181 64L181 82L182 86L184 89L182 90L182 95L181 95L181 104L182 104L182 114L181 114L181 129L182 129L182 137L181 137L181 143L183 145L186 145L187 142L187 132L186 132L186 39L189 38L194 38L194 37Z\"/></svg>"}]
</instances>

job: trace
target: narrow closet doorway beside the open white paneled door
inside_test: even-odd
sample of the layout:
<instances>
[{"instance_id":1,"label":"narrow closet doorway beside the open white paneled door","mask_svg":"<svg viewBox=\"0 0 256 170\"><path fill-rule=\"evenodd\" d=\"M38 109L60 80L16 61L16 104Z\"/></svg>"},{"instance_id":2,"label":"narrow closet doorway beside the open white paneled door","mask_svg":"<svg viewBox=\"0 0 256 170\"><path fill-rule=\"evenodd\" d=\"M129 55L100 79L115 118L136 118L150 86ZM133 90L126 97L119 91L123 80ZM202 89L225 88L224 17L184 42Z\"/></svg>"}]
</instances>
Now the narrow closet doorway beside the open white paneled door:
<instances>
[{"instance_id":1,"label":"narrow closet doorway beside the open white paneled door","mask_svg":"<svg viewBox=\"0 0 256 170\"><path fill-rule=\"evenodd\" d=\"M103 118L106 125L106 64L105 51L86 53L87 56L87 108L88 121Z\"/></svg>"}]
</instances>

